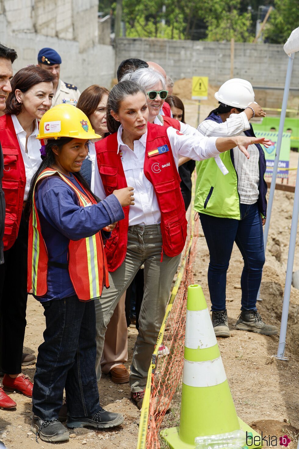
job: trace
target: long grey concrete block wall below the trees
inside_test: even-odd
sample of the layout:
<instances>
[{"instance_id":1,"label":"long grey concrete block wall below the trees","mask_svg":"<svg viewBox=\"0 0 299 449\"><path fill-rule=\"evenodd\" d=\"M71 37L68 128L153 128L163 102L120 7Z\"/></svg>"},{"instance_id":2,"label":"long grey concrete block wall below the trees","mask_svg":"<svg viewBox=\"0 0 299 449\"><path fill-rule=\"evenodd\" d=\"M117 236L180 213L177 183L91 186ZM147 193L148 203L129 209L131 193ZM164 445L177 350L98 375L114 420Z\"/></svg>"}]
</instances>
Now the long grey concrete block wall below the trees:
<instances>
[{"instance_id":1,"label":"long grey concrete block wall below the trees","mask_svg":"<svg viewBox=\"0 0 299 449\"><path fill-rule=\"evenodd\" d=\"M230 78L230 43L188 40L117 40L116 68L128 57L155 61L174 80L208 76L219 85ZM236 43L234 77L248 79L253 86L283 87L288 57L282 45ZM299 57L295 57L291 86L297 86Z\"/></svg>"}]
</instances>

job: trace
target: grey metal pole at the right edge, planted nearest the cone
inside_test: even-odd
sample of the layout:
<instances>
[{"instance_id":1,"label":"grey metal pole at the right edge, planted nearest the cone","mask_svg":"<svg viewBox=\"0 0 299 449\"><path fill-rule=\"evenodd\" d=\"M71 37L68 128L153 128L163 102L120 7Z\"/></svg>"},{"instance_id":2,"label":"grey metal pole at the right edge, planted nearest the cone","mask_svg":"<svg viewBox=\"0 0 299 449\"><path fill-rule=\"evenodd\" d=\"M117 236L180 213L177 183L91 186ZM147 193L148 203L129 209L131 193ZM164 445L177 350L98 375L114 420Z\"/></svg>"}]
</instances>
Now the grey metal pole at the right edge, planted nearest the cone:
<instances>
[{"instance_id":1,"label":"grey metal pole at the right edge, planted nearest the cone","mask_svg":"<svg viewBox=\"0 0 299 449\"><path fill-rule=\"evenodd\" d=\"M288 323L290 287L292 284L292 276L293 276L298 219L299 219L299 159L298 159L296 187L294 195L292 224L290 227L290 245L289 245L288 263L286 266L286 285L282 304L282 322L280 326L279 344L277 349L277 359L279 360L288 360L288 357L284 357L284 353L286 348L286 326Z\"/></svg>"}]
</instances>

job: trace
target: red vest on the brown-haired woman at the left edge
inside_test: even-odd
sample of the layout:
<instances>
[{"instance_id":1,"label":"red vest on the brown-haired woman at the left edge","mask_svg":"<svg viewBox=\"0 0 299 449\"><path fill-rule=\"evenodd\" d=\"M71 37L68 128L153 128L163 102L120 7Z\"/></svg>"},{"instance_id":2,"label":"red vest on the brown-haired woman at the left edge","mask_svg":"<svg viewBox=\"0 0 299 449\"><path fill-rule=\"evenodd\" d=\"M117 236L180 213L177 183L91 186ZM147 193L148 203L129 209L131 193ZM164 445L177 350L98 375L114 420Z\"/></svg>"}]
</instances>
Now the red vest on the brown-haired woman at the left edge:
<instances>
[{"instance_id":1,"label":"red vest on the brown-haired woman at the left edge","mask_svg":"<svg viewBox=\"0 0 299 449\"><path fill-rule=\"evenodd\" d=\"M0 117L0 141L4 158L2 187L5 195L5 229L3 243L4 250L9 250L19 232L26 185L25 166L10 114Z\"/></svg>"}]
</instances>

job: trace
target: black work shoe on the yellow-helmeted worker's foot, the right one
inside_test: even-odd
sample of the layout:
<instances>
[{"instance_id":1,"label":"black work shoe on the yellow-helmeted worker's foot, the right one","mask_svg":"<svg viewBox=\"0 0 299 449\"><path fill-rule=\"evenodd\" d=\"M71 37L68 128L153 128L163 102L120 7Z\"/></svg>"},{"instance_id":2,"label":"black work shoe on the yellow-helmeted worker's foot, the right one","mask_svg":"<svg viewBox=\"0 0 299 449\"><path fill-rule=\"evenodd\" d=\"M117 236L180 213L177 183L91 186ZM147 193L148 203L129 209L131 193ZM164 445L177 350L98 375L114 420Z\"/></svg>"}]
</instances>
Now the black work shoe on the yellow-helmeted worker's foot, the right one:
<instances>
[{"instance_id":1,"label":"black work shoe on the yellow-helmeted worker's foot, the right one","mask_svg":"<svg viewBox=\"0 0 299 449\"><path fill-rule=\"evenodd\" d=\"M107 410L100 409L93 416L83 418L72 418L68 416L66 420L67 427L95 427L96 429L108 429L109 427L119 426L124 422L125 418L120 413L111 413Z\"/></svg>"}]
</instances>

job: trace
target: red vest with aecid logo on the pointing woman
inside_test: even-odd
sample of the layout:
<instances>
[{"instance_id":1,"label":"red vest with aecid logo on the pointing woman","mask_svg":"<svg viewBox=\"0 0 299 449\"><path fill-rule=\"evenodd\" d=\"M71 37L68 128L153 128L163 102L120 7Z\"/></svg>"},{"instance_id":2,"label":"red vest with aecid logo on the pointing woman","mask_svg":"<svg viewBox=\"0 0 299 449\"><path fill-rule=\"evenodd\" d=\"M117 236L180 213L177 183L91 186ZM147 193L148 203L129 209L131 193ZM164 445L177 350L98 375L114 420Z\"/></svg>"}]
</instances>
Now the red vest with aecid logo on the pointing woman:
<instances>
[{"instance_id":1,"label":"red vest with aecid logo on the pointing woman","mask_svg":"<svg viewBox=\"0 0 299 449\"><path fill-rule=\"evenodd\" d=\"M162 255L173 257L184 248L187 220L180 189L181 178L174 162L167 128L147 124L147 144L143 171L152 183L161 212ZM96 157L106 195L127 187L121 154L117 153L117 132L96 142ZM134 207L134 206L132 206ZM105 245L108 270L115 271L124 261L129 227L129 206L123 208L124 220L117 223Z\"/></svg>"}]
</instances>

